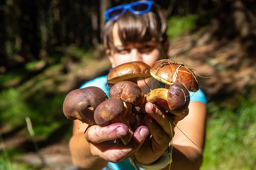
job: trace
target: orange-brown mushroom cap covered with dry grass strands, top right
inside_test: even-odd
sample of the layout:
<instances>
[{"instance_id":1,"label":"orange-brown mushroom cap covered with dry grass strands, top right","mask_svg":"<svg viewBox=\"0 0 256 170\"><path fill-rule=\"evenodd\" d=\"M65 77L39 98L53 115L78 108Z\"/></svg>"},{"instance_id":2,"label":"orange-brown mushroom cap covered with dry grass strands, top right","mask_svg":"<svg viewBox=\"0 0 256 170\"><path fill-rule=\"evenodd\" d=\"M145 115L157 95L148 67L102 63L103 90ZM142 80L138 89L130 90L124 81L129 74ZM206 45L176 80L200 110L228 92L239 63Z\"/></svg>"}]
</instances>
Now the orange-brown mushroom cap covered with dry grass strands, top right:
<instances>
[{"instance_id":1,"label":"orange-brown mushroom cap covered with dry grass strands, top right","mask_svg":"<svg viewBox=\"0 0 256 170\"><path fill-rule=\"evenodd\" d=\"M193 69L178 60L159 60L152 65L150 74L158 81L168 85L180 82L188 91L196 92L199 89L198 80Z\"/></svg>"}]
</instances>

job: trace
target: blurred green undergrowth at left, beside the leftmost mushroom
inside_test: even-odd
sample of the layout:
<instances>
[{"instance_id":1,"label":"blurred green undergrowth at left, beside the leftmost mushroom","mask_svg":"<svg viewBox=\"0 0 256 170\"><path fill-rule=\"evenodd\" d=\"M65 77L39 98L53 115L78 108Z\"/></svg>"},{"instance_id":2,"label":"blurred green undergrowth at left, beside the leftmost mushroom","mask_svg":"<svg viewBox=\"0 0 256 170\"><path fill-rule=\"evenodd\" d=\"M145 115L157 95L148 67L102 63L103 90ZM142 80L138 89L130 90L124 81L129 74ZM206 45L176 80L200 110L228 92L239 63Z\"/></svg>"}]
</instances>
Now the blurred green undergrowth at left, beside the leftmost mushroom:
<instances>
[{"instance_id":1,"label":"blurred green undergrowth at left, beside the leftmost mushroom","mask_svg":"<svg viewBox=\"0 0 256 170\"><path fill-rule=\"evenodd\" d=\"M65 95L47 97L41 93L32 100L23 97L18 89L8 89L0 93L1 123L8 123L12 127L25 127L25 117L28 116L31 118L36 137L46 139L63 125L72 127L72 122L68 122L62 113L64 98Z\"/></svg>"}]
</instances>

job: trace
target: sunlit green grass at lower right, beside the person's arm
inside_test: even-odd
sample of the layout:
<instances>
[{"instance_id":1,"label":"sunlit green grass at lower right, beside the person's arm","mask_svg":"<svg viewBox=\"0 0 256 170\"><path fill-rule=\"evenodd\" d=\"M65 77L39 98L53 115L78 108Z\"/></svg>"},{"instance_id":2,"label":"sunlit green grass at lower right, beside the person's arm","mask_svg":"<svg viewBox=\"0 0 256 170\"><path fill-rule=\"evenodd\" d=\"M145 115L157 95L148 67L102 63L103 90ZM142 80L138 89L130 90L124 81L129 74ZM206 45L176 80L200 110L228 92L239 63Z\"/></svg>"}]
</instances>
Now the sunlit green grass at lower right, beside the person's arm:
<instances>
[{"instance_id":1,"label":"sunlit green grass at lower right, beside the person's arm","mask_svg":"<svg viewBox=\"0 0 256 170\"><path fill-rule=\"evenodd\" d=\"M229 109L208 104L204 163L201 169L256 167L256 99L242 98Z\"/></svg>"}]
</instances>

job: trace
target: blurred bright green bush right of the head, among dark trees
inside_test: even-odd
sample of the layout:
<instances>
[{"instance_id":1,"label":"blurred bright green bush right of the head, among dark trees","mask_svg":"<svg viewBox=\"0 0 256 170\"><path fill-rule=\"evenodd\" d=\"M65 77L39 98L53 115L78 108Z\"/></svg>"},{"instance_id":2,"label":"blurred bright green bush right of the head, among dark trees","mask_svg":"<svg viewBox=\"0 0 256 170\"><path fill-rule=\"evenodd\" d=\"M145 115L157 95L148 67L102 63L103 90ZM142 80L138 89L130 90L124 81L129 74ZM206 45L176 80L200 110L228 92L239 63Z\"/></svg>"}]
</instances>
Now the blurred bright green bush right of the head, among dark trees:
<instances>
[{"instance_id":1,"label":"blurred bright green bush right of the head, among dark trees","mask_svg":"<svg viewBox=\"0 0 256 170\"><path fill-rule=\"evenodd\" d=\"M167 36L169 39L180 37L196 28L199 15L190 14L185 17L173 16L167 20Z\"/></svg>"}]
</instances>

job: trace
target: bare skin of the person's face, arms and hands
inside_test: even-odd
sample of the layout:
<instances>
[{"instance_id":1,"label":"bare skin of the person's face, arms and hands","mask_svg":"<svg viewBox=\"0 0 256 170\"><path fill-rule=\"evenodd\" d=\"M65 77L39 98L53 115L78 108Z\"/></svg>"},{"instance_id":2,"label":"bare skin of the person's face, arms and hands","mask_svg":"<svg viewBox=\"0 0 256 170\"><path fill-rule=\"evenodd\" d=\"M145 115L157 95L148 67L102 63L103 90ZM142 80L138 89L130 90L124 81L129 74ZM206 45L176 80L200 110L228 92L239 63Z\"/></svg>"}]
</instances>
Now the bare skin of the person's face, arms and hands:
<instances>
[{"instance_id":1,"label":"bare skin of the person's face, arms and hands","mask_svg":"<svg viewBox=\"0 0 256 170\"><path fill-rule=\"evenodd\" d=\"M111 64L115 66L131 61L142 61L151 66L157 60L167 56L168 45L164 46L162 43L149 41L143 44L133 43L124 46L118 37L116 25L114 25L112 33L115 49L107 49L106 54ZM146 80L146 82L151 87L151 81ZM150 91L143 80L138 81L138 86L144 94ZM159 87L156 81L152 82L152 86L153 89ZM161 106L162 109L168 107L165 101L158 101L155 105ZM102 169L106 166L106 161L116 163L135 155L140 163L152 164L161 157L173 140L172 169L199 169L202 152L174 128L172 122L178 122L177 125L182 131L203 148L205 104L190 103L189 115L186 110L177 115L170 114L170 116L155 105L146 103L145 111L148 115L144 118L137 115L130 117L134 133L128 145L121 142L113 144L111 141L127 134L128 127L125 124L114 123L100 127L98 125L88 126L75 120L73 136L69 143L73 163L77 167L85 169ZM172 124L172 132L169 122ZM175 134L174 138L172 138L172 134ZM83 140L81 135L85 138L83 142L80 141ZM77 147L78 143L79 147ZM166 166L166 169L169 169L169 166Z\"/></svg>"}]
</instances>

